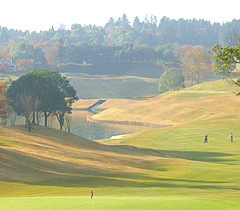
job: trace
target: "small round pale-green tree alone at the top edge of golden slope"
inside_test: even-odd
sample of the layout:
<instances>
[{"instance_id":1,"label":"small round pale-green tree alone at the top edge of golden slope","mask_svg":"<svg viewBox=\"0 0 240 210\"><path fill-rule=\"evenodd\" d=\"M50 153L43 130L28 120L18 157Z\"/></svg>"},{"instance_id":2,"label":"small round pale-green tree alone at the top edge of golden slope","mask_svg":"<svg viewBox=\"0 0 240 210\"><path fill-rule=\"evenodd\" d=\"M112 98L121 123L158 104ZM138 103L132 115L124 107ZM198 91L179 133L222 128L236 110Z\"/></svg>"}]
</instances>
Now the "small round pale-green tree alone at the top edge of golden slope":
<instances>
[{"instance_id":1,"label":"small round pale-green tree alone at the top edge of golden slope","mask_svg":"<svg viewBox=\"0 0 240 210\"><path fill-rule=\"evenodd\" d=\"M179 87L184 87L184 76L180 69L172 67L166 70L159 79L158 89L160 92L166 92Z\"/></svg>"}]
</instances>

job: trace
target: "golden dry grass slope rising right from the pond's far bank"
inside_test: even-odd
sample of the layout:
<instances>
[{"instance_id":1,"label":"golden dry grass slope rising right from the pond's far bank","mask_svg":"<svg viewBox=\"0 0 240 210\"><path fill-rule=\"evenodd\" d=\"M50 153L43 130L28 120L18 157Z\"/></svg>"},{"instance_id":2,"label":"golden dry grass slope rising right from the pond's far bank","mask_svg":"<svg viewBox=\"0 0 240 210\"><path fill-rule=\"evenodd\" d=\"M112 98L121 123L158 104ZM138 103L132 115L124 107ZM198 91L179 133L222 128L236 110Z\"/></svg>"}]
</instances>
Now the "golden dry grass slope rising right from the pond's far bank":
<instances>
[{"instance_id":1,"label":"golden dry grass slope rising right from the pond's far bank","mask_svg":"<svg viewBox=\"0 0 240 210\"><path fill-rule=\"evenodd\" d=\"M119 104L93 119L179 125L199 120L239 118L240 97L225 81L206 82L154 98Z\"/></svg>"}]
</instances>

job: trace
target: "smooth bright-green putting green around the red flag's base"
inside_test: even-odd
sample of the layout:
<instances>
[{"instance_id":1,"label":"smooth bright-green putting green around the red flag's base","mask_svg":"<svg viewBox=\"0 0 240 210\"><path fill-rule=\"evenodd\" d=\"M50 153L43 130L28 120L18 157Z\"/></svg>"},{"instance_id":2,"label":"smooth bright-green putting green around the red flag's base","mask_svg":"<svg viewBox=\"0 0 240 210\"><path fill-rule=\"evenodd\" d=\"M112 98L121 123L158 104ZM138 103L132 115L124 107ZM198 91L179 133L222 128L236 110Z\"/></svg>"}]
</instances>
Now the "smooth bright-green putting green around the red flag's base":
<instances>
[{"instance_id":1,"label":"smooth bright-green putting green around the red flag's base","mask_svg":"<svg viewBox=\"0 0 240 210\"><path fill-rule=\"evenodd\" d=\"M162 197L25 197L0 198L1 209L238 209L233 202L217 199Z\"/></svg>"}]
</instances>

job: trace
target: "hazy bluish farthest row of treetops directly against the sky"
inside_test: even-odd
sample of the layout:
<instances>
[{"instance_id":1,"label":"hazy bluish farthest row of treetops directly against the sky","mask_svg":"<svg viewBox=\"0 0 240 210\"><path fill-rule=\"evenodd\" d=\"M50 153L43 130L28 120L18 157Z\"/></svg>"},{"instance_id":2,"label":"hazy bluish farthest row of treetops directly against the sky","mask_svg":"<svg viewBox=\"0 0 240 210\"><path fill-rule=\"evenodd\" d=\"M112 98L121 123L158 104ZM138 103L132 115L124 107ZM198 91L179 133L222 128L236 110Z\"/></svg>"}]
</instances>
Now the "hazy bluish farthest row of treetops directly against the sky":
<instances>
[{"instance_id":1,"label":"hazy bluish farthest row of treetops directly against the sky","mask_svg":"<svg viewBox=\"0 0 240 210\"><path fill-rule=\"evenodd\" d=\"M65 44L77 44L86 42L92 44L95 40L107 45L122 45L126 42L146 44L149 47L157 47L167 43L179 43L179 45L191 44L211 48L216 43L225 44L232 29L240 28L240 20L232 20L227 23L211 23L204 19L178 20L162 17L160 21L156 16L146 15L143 21L136 16L132 24L126 14L118 20L112 17L105 26L72 24L71 29L66 30L64 25L55 30L30 32L7 29L0 26L0 44L6 47L7 43L24 41L26 43L51 43L62 42Z\"/></svg>"}]
</instances>

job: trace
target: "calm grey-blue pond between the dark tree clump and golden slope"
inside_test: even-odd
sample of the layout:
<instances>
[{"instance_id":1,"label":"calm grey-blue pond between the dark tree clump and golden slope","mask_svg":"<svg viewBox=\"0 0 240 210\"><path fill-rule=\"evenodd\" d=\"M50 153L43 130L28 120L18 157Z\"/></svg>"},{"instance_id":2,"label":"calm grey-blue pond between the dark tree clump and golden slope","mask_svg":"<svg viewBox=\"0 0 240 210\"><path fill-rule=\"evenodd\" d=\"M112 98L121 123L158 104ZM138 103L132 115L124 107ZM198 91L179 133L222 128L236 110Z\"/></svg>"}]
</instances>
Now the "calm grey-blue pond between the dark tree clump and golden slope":
<instances>
[{"instance_id":1,"label":"calm grey-blue pond between the dark tree clump and golden slope","mask_svg":"<svg viewBox=\"0 0 240 210\"><path fill-rule=\"evenodd\" d=\"M93 113L88 111L72 111L71 133L90 140L109 139L112 136L136 133L143 130L153 129L146 126L122 125L108 123L92 123L87 121L87 116ZM23 117L18 117L16 124L23 124ZM48 119L49 127L59 129L56 119ZM44 125L44 119L40 120L40 125ZM64 130L64 128L63 128Z\"/></svg>"}]
</instances>

